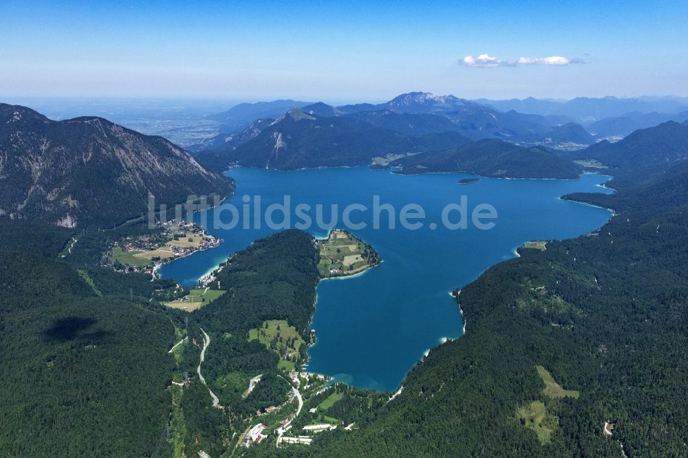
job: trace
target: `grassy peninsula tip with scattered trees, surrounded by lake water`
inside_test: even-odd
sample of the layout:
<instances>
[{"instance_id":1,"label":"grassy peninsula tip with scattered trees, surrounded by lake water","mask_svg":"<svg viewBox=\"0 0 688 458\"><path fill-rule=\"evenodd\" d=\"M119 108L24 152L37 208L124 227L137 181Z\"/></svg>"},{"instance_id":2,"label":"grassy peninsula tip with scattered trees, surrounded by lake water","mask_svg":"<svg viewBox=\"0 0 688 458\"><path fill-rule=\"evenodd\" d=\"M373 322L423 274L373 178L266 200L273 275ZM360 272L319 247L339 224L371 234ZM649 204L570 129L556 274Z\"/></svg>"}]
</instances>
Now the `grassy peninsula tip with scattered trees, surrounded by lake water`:
<instances>
[{"instance_id":1,"label":"grassy peninsula tip with scattered trees, surrounded by lake water","mask_svg":"<svg viewBox=\"0 0 688 458\"><path fill-rule=\"evenodd\" d=\"M371 266L367 258L372 254L361 240L342 230L333 230L321 241L318 271L327 278L362 272Z\"/></svg>"}]
</instances>

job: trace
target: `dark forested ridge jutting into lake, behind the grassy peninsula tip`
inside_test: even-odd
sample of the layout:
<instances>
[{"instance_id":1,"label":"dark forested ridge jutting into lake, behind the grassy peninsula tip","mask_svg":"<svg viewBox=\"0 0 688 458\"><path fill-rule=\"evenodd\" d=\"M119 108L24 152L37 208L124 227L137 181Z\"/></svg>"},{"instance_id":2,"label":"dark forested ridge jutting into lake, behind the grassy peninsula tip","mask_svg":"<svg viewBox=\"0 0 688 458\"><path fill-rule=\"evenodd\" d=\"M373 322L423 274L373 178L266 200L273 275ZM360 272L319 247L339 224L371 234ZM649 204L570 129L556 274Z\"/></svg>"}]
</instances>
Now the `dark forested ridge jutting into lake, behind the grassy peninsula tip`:
<instances>
[{"instance_id":1,"label":"dark forested ridge jutting into lake, behind the grassy peninsula tip","mask_svg":"<svg viewBox=\"0 0 688 458\"><path fill-rule=\"evenodd\" d=\"M283 320L283 326L294 327L300 339L310 342L318 260L310 235L287 230L233 254L217 274L226 293L189 318L211 337L204 377L223 408L210 406L207 390L184 390L186 456L197 456L200 450L221 455L234 433L255 424L252 417L257 409L286 401L290 385L278 370L282 355L248 337L250 329L261 329L266 320ZM197 329L191 336L201 341ZM191 354L195 351L189 345L187 349ZM305 350L303 345L294 358L305 360ZM245 393L249 380L257 375L263 375L261 382L250 395Z\"/></svg>"}]
</instances>

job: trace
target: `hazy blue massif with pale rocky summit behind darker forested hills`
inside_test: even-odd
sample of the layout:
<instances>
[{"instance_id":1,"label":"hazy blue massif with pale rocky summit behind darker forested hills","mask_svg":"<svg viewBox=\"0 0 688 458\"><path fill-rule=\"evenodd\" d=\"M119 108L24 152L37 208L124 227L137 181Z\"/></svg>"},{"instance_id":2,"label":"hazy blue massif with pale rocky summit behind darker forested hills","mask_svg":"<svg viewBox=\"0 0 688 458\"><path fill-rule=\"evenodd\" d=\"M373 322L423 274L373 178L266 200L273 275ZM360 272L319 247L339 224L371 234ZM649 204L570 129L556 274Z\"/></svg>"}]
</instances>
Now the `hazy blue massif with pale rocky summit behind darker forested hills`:
<instances>
[{"instance_id":1,"label":"hazy blue massif with pale rocky summit behind darker forested hills","mask_svg":"<svg viewBox=\"0 0 688 458\"><path fill-rule=\"evenodd\" d=\"M291 104L291 105L290 105ZM288 107L287 109L285 107ZM256 126L265 127L257 118L277 118L291 108L300 107L304 113L323 118L352 117L391 129L405 135L423 135L442 131L456 131L471 140L499 138L528 144L591 144L592 135L581 134L583 127L573 131L569 127L557 130L571 120L564 116L539 116L517 111L502 112L486 105L455 96L434 96L429 92L401 94L379 104L361 103L334 107L323 102L299 106L293 100L275 100L257 104L237 105L230 111L215 115L215 119L232 120L221 127L221 133L193 146L193 151L231 151L248 141ZM279 114L275 114L278 113ZM408 115L415 115L409 118ZM251 118L255 116L255 118ZM552 130L555 129L555 130ZM569 133L571 135L569 135ZM239 139L239 140L237 140Z\"/></svg>"}]
</instances>

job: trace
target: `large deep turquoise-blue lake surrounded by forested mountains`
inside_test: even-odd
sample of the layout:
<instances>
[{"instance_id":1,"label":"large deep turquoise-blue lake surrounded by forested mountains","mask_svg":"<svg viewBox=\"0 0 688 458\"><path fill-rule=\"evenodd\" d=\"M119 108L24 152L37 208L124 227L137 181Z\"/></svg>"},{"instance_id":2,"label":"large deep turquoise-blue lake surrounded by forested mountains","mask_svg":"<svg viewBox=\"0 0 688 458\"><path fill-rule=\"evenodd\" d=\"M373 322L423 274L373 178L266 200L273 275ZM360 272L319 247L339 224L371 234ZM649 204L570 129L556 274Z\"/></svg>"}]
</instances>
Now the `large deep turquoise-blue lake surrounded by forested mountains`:
<instances>
[{"instance_id":1,"label":"large deep turquoise-blue lake surrounded by forested mountains","mask_svg":"<svg viewBox=\"0 0 688 458\"><path fill-rule=\"evenodd\" d=\"M368 168L236 168L228 175L237 180L236 194L218 208L193 215L224 243L164 265L161 276L193 286L229 254L276 232L265 222L260 228L243 228L244 199L253 210L255 196L260 195L261 207L266 210L290 196L290 226L302 222L294 213L298 204L311 206L308 215L313 221L316 205L322 204L323 219L328 223L332 221L331 206L337 204L338 228L343 227L346 206L366 206L367 211L354 209L350 219L367 223L367 227L351 232L372 244L383 263L359 276L319 284L311 325L316 343L310 348L308 364L308 371L366 389L396 390L428 349L444 338L462 334L462 319L449 292L470 283L491 265L514 257L515 248L526 241L577 237L599 228L611 215L602 208L559 199L574 192L610 193L599 186L608 177L592 174L575 180L481 178L473 184L458 184L459 179L471 175L402 176ZM387 211L379 212L380 227L373 227L374 195L379 196L380 204L394 206L396 228L389 228ZM476 228L471 221L466 229L444 227L442 209L460 204L461 196L465 196L469 220L475 206L493 206L497 218L482 220L494 223L491 230ZM422 228L400 226L399 214L406 204L424 209ZM232 221L230 206L237 208L238 226L218 228L217 217L224 223ZM250 221L254 215L251 211ZM451 212L449 219L457 222L459 212ZM274 221L282 221L281 212L274 214ZM431 228L431 223L437 227ZM327 227L308 231L316 237L327 235Z\"/></svg>"}]
</instances>

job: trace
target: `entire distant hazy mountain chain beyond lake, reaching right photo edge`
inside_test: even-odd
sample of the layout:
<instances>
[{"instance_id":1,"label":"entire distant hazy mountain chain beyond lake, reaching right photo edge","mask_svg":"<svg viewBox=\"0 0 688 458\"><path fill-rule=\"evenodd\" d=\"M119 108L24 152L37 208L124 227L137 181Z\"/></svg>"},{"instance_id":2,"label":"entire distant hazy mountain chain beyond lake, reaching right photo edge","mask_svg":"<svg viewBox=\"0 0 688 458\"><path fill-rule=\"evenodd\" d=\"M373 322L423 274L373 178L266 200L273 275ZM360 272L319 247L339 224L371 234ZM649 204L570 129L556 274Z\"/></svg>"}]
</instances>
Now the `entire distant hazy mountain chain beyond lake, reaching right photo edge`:
<instances>
[{"instance_id":1,"label":"entire distant hazy mountain chain beyond lake, reaching right photo edge","mask_svg":"<svg viewBox=\"0 0 688 458\"><path fill-rule=\"evenodd\" d=\"M242 103L211 116L222 123L220 133L191 146L191 150L231 151L255 137L256 127L262 129L266 126L264 120L273 120L297 107L312 116L352 116L407 135L457 131L471 140L499 138L522 146L545 145L565 150L581 149L600 138L623 137L636 129L668 120L682 122L688 119L688 98L609 96L572 100L467 100L416 91L376 104L333 106L298 100ZM391 113L398 118L406 114L429 118L403 122L402 119L394 120Z\"/></svg>"}]
</instances>

